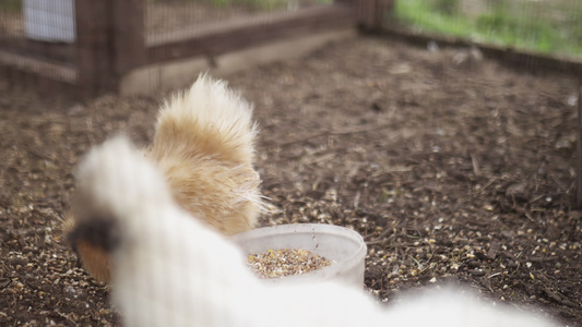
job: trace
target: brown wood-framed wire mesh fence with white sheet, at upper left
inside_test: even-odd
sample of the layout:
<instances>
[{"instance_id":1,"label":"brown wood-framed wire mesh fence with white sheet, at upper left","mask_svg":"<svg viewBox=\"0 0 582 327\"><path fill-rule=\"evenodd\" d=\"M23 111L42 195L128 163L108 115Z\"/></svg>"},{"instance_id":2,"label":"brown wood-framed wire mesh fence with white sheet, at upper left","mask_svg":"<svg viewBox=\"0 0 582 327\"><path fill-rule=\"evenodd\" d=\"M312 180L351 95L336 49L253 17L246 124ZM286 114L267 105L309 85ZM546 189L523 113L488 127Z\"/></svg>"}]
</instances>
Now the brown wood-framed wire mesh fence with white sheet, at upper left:
<instances>
[{"instance_id":1,"label":"brown wood-framed wire mesh fence with white sheet, at upper left","mask_svg":"<svg viewBox=\"0 0 582 327\"><path fill-rule=\"evenodd\" d=\"M354 3L7 0L0 4L0 63L11 73L44 75L88 94L119 90L120 80L138 68L353 24L349 5L338 2Z\"/></svg>"}]
</instances>

